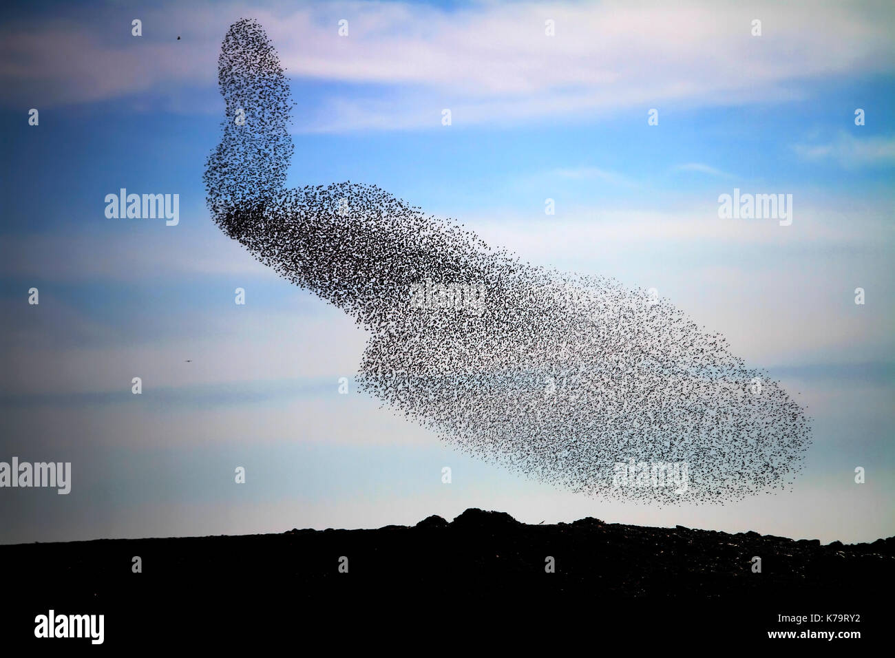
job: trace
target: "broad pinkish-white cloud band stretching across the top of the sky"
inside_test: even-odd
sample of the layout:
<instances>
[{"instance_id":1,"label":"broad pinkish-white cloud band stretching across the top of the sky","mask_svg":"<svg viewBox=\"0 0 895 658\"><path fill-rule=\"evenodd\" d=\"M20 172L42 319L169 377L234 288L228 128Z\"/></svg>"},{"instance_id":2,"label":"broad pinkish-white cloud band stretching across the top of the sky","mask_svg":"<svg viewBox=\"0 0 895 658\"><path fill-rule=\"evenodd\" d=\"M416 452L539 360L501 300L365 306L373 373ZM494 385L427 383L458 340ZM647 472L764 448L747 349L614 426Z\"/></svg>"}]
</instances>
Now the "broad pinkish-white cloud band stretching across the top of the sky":
<instances>
[{"instance_id":1,"label":"broad pinkish-white cloud band stretching across the top of the sky","mask_svg":"<svg viewBox=\"0 0 895 658\"><path fill-rule=\"evenodd\" d=\"M444 107L463 125L780 101L805 95L807 81L891 72L895 62L888 4L869 11L809 3L486 2L445 11L335 2L251 12L234 3L165 4L143 12L141 38L130 35L130 14L127 21L117 9L99 14L90 24L13 21L0 30L7 102L164 98L183 85L213 87L220 40L244 15L266 26L299 83L377 92L328 94L298 126L305 132L435 127ZM750 34L755 16L763 20L760 38ZM347 37L338 36L341 19ZM545 35L548 20L556 36Z\"/></svg>"}]
</instances>

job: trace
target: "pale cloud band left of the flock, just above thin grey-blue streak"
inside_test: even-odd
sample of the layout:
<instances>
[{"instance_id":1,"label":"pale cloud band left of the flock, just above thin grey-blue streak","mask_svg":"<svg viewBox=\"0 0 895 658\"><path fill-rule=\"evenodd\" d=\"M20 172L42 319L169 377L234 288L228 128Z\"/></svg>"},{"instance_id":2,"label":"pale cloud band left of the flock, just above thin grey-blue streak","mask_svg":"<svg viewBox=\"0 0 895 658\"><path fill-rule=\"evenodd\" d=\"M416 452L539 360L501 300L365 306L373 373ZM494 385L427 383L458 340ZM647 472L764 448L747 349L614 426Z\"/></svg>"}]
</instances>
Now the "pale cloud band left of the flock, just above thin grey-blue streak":
<instances>
[{"instance_id":1,"label":"pale cloud band left of the flock, just above thin grey-blue streak","mask_svg":"<svg viewBox=\"0 0 895 658\"><path fill-rule=\"evenodd\" d=\"M306 296L294 291L296 300ZM50 314L45 329L3 335L15 349L0 355L8 375L0 393L128 392L132 377L141 377L146 389L325 377L335 390L338 377L356 372L367 338L349 316L315 299L277 312L251 312L248 305L240 313L180 312L180 335L153 339L151 324L122 345L113 342L112 329L77 307L51 305L43 295L40 301ZM61 335L72 332L81 341L65 344ZM105 344L84 339L104 333Z\"/></svg>"}]
</instances>

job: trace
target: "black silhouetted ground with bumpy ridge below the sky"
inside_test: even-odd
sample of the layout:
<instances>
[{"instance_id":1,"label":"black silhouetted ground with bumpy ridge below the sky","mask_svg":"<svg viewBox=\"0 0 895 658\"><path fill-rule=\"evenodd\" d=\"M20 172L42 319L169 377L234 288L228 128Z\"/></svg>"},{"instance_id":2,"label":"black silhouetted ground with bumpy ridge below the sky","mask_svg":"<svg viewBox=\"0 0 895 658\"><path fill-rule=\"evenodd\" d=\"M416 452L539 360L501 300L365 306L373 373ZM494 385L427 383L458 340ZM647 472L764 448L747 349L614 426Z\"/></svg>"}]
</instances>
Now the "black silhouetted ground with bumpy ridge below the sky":
<instances>
[{"instance_id":1,"label":"black silhouetted ground with bumpy ridge below the sky","mask_svg":"<svg viewBox=\"0 0 895 658\"><path fill-rule=\"evenodd\" d=\"M141 573L132 572L135 556ZM761 573L754 573L754 557ZM529 526L467 509L450 523L429 517L377 530L8 545L0 546L0 565L4 642L89 645L34 640L35 616L53 608L105 614L105 645L333 632L344 640L369 623L382 637L427 628L447 637L483 625L540 635L670 632L697 644L866 646L888 634L883 615L891 610L895 538L822 546L590 517ZM820 618L780 620L812 614ZM862 637L767 637L789 629L858 630Z\"/></svg>"}]
</instances>

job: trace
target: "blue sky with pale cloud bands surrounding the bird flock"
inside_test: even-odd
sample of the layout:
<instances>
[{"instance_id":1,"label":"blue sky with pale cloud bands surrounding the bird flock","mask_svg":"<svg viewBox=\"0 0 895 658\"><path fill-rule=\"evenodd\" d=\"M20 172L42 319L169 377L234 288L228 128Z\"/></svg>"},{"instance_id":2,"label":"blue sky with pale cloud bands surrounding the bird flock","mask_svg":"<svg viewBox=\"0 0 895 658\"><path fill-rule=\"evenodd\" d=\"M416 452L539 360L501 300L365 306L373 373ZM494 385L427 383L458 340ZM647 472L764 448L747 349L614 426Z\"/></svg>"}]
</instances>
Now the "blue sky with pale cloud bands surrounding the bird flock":
<instances>
[{"instance_id":1,"label":"blue sky with pale cloud bands surrounding the bird flock","mask_svg":"<svg viewBox=\"0 0 895 658\"><path fill-rule=\"evenodd\" d=\"M824 543L895 534L891 3L32 2L0 16L0 461L72 462L68 495L0 489L0 543L410 525L469 507ZM243 17L294 93L287 184L377 184L523 261L657 288L807 406L792 491L588 498L466 457L359 392L362 329L205 206L217 56ZM179 194L179 223L107 218L121 188ZM791 194L792 224L720 218L735 188Z\"/></svg>"}]
</instances>

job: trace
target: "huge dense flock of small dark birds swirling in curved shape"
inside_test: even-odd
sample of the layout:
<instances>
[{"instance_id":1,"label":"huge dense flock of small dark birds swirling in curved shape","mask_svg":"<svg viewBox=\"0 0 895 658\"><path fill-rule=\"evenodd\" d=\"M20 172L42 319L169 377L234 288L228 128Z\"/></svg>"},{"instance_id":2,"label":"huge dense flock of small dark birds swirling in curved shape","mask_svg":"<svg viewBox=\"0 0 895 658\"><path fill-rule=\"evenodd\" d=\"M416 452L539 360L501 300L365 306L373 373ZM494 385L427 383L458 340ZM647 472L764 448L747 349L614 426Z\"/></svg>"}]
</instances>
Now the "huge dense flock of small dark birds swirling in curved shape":
<instances>
[{"instance_id":1,"label":"huge dense flock of small dark birds swirling in curved shape","mask_svg":"<svg viewBox=\"0 0 895 658\"><path fill-rule=\"evenodd\" d=\"M362 389L469 454L574 491L678 503L792 483L809 419L720 334L648 291L520 261L374 185L286 189L293 101L257 21L231 26L218 66L212 216L369 332ZM686 491L644 476L655 464L686 464Z\"/></svg>"}]
</instances>

